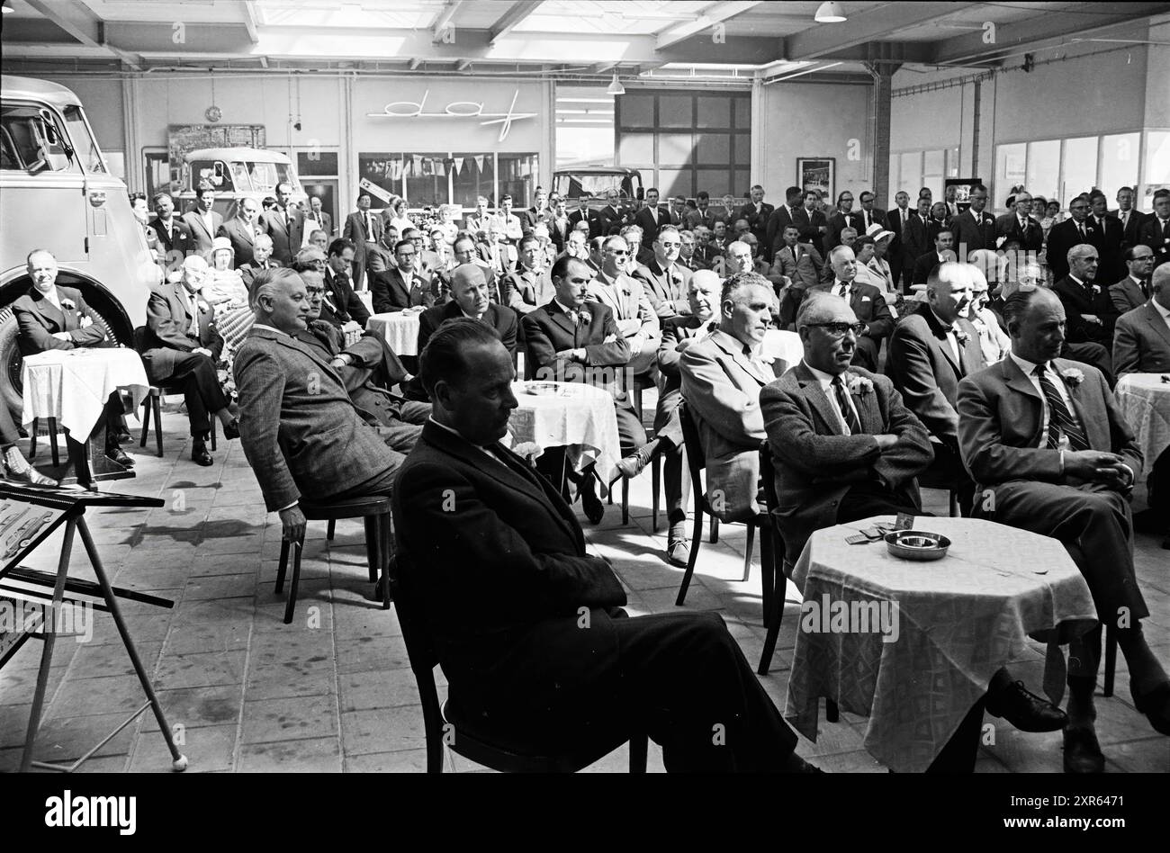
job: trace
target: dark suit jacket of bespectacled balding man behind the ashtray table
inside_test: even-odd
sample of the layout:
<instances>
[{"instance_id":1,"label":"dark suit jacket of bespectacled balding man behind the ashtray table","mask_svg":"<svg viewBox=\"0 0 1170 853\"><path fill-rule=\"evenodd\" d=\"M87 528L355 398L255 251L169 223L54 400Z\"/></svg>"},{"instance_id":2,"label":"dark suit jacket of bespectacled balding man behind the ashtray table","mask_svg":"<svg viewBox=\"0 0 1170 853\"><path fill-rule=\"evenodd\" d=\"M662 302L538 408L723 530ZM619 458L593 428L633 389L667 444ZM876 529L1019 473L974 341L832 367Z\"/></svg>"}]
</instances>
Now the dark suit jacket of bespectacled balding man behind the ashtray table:
<instances>
[{"instance_id":1,"label":"dark suit jacket of bespectacled balding man behind the ashtray table","mask_svg":"<svg viewBox=\"0 0 1170 853\"><path fill-rule=\"evenodd\" d=\"M876 479L907 503L921 505L915 477L934 460L925 427L887 377L849 367L846 386L854 376L873 383L872 391L849 394L861 421L856 435L845 435L820 381L804 362L760 392L776 468L776 522L791 563L814 531L837 523L838 507L853 483ZM900 439L886 453L873 438L882 434Z\"/></svg>"}]
</instances>

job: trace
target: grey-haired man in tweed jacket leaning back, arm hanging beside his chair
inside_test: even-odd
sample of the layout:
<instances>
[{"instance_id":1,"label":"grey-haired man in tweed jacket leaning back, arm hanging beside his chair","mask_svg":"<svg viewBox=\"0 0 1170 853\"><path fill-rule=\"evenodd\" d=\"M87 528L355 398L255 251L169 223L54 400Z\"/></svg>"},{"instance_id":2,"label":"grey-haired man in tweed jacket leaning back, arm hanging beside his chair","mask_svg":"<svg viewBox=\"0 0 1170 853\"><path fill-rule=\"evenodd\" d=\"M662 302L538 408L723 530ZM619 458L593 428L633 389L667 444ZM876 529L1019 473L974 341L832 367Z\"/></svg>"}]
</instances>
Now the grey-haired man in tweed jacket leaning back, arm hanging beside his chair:
<instances>
[{"instance_id":1,"label":"grey-haired man in tweed jacket leaning back, arm hanging beside his chair","mask_svg":"<svg viewBox=\"0 0 1170 853\"><path fill-rule=\"evenodd\" d=\"M309 297L291 269L261 273L249 301L256 321L235 357L240 439L283 538L304 537L302 495L314 501L390 495L405 456L358 412L337 370L294 335Z\"/></svg>"}]
</instances>

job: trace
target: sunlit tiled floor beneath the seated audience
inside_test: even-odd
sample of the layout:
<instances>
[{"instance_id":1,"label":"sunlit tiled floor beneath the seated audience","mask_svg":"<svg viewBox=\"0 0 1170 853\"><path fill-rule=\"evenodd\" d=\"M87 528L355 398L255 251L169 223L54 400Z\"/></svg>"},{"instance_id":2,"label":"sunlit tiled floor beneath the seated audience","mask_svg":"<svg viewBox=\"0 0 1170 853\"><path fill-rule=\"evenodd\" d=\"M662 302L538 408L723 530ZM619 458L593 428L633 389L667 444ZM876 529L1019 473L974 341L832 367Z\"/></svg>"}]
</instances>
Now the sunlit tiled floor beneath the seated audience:
<instances>
[{"instance_id":1,"label":"sunlit tiled floor beneath the seated audience","mask_svg":"<svg viewBox=\"0 0 1170 853\"><path fill-rule=\"evenodd\" d=\"M652 406L647 401L647 407ZM188 772L200 771L421 771L426 766L422 718L414 679L393 611L371 600L362 527L339 522L325 541L324 523L310 523L296 619L282 622L283 596L273 586L281 528L263 509L260 489L239 442L225 442L215 465L188 459L185 417L168 413L166 458L132 449L138 477L108 490L161 497L150 511L98 511L90 523L115 584L168 599L171 611L125 606L138 651L172 727L178 727ZM924 491L928 509L944 513L944 496ZM651 532L649 476L631 489L631 523L617 505L598 528L586 524L591 546L608 556L629 591L632 614L675 610L681 570L662 559L665 532ZM720 542L702 545L688 610L718 610L748 659L759 659L759 567L739 583L745 534L723 525ZM60 536L28 564L51 570ZM1154 537L1137 539L1138 575L1154 615L1145 631L1170 666L1170 552ZM80 548L74 572L88 576ZM789 606L771 673L762 679L783 707L796 642L798 601ZM29 642L0 670L0 770L20 763L41 645ZM1039 647L1017 669L1040 683ZM436 677L442 685L441 674ZM442 687L440 687L440 690ZM36 758L68 762L82 755L133 711L143 699L112 621L97 617L94 640L57 644ZM1170 738L1159 737L1133 708L1124 660L1116 693L1097 700L1097 730L1110 772L1170 770ZM862 748L866 720L842 714L821 722L818 741L799 751L832 772L883 772ZM996 728L982 748L979 772L1061 769L1060 735L1025 735ZM84 770L165 771L170 755L147 711L105 744ZM477 769L448 754L448 770ZM625 750L591 770L621 771ZM651 744L651 769L661 752Z\"/></svg>"}]
</instances>

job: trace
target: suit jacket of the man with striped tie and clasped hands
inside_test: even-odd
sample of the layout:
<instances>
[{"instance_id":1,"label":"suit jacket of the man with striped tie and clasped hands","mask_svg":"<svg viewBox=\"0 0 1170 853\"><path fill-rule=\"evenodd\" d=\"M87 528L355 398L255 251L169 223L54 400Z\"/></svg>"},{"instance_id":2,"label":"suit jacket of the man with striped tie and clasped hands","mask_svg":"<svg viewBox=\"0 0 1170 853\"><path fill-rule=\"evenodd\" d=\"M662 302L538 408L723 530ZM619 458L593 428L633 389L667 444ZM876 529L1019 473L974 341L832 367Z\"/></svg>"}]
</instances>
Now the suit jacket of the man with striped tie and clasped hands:
<instances>
[{"instance_id":1,"label":"suit jacket of the man with striped tie and clasped hands","mask_svg":"<svg viewBox=\"0 0 1170 853\"><path fill-rule=\"evenodd\" d=\"M1076 369L1085 376L1079 385L1066 383L1065 387L1089 447L1123 456L1124 463L1140 473L1142 452L1101 371L1065 358L1053 359L1053 365L1058 373ZM959 383L959 452L979 486L1012 480L1065 482L1060 452L1040 447L1041 400L1040 392L1011 357Z\"/></svg>"}]
</instances>

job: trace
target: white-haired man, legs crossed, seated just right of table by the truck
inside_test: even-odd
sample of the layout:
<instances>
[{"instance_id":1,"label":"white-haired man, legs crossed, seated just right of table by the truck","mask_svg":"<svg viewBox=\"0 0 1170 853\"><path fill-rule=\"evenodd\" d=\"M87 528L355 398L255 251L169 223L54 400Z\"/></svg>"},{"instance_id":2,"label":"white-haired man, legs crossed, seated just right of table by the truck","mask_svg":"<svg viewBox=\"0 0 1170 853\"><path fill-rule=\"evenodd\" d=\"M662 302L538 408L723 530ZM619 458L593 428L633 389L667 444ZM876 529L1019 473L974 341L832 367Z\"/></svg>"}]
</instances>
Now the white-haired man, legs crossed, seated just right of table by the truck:
<instances>
[{"instance_id":1,"label":"white-haired man, legs crossed, seated just right of table by the truck","mask_svg":"<svg viewBox=\"0 0 1170 853\"><path fill-rule=\"evenodd\" d=\"M207 261L188 256L180 283L165 282L151 290L142 336L143 364L151 385L183 386L191 421L191 460L205 467L213 462L207 453L209 417L223 425L225 438L240 435L215 372L223 338L215 329L215 309L199 295L206 278Z\"/></svg>"}]
</instances>

